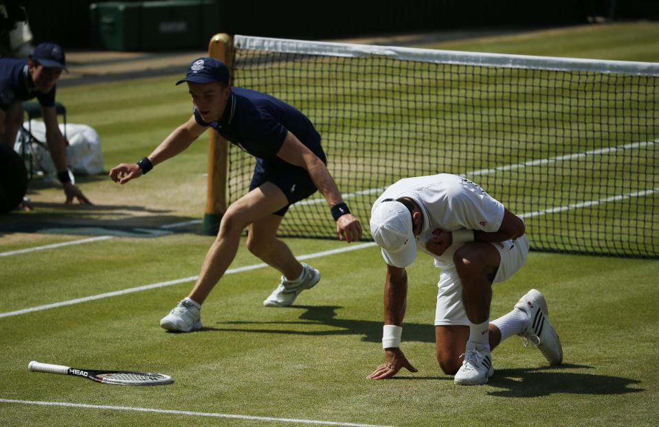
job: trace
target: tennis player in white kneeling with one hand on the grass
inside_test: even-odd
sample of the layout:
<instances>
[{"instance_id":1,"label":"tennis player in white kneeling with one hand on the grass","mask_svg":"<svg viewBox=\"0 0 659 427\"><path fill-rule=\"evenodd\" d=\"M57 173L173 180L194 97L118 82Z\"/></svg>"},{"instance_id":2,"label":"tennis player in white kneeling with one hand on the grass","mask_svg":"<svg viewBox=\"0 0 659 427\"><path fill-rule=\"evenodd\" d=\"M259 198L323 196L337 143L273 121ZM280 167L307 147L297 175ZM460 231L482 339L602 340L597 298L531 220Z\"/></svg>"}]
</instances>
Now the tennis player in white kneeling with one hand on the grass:
<instances>
[{"instance_id":1,"label":"tennis player in white kneeling with one hand on the grass","mask_svg":"<svg viewBox=\"0 0 659 427\"><path fill-rule=\"evenodd\" d=\"M532 289L509 314L489 321L491 285L511 277L528 254L524 221L475 183L451 174L405 178L375 201L370 229L387 263L382 346L385 363L368 378L416 372L401 351L407 302L405 267L418 250L441 268L435 314L437 360L456 384L485 384L494 373L490 351L520 335L551 365L563 361L542 294Z\"/></svg>"}]
</instances>

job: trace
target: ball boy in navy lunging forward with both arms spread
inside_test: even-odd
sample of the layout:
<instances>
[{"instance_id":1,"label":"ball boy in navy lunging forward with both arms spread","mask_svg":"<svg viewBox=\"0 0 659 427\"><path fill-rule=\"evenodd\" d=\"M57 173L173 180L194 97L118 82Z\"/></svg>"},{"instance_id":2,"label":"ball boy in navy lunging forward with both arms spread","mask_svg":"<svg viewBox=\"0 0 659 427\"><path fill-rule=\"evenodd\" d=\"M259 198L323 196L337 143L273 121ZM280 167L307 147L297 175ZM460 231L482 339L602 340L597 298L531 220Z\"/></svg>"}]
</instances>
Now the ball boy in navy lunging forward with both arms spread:
<instances>
[{"instance_id":1,"label":"ball boy in navy lunging forward with both arms spread","mask_svg":"<svg viewBox=\"0 0 659 427\"><path fill-rule=\"evenodd\" d=\"M190 332L201 328L201 304L232 263L245 227L249 227L249 251L282 273L279 286L263 304L284 307L320 280L315 268L300 264L289 247L276 238L289 206L320 189L331 207L340 240L359 240L361 224L343 202L327 170L320 135L304 114L265 93L231 86L229 70L214 58L190 62L186 78L177 84L183 82L192 96L192 117L148 157L137 163L121 163L110 171L110 177L125 184L146 174L186 150L209 127L256 157L249 192L228 207L197 283L160 321L166 330Z\"/></svg>"}]
</instances>

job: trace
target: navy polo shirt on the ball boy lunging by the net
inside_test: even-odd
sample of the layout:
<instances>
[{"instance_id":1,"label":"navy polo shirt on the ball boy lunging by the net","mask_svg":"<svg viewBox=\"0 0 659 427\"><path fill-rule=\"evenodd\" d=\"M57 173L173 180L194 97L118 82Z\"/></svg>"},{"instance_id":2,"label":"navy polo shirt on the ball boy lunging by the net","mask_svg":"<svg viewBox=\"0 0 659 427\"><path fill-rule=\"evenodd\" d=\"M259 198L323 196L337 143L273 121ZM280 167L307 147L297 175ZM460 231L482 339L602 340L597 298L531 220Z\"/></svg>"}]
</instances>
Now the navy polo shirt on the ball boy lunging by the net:
<instances>
[{"instance_id":1,"label":"navy polo shirt on the ball boy lunging by the net","mask_svg":"<svg viewBox=\"0 0 659 427\"><path fill-rule=\"evenodd\" d=\"M227 141L256 157L257 172L292 166L277 157L287 132L293 132L304 146L322 161L326 161L320 146L320 134L311 120L276 97L232 86L227 106L219 121L207 123L197 108L193 108L192 112L199 125L214 128Z\"/></svg>"}]
</instances>

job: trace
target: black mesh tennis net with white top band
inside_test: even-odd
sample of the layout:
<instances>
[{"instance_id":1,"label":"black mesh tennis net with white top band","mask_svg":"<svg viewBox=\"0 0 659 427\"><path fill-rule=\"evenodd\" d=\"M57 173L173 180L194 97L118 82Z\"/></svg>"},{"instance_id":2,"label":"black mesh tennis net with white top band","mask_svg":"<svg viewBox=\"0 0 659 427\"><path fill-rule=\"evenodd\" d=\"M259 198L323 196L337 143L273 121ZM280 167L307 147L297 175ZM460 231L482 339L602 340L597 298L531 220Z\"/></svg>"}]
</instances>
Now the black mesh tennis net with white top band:
<instances>
[{"instance_id":1,"label":"black mesh tennis net with white top band","mask_svg":"<svg viewBox=\"0 0 659 427\"><path fill-rule=\"evenodd\" d=\"M311 119L364 239L388 185L446 172L524 218L534 250L659 257L658 67L280 42L236 36L232 83ZM230 147L230 203L253 168ZM320 192L289 209L280 235L335 238Z\"/></svg>"}]
</instances>

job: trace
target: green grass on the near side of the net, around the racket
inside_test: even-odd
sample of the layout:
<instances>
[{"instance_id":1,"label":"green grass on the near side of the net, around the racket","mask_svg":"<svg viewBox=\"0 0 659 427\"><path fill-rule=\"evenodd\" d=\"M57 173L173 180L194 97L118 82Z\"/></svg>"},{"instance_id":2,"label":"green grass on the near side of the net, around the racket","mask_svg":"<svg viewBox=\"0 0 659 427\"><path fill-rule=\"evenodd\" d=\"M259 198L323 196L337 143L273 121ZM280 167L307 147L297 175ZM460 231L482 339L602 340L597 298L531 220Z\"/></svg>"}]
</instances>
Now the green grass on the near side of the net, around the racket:
<instances>
[{"instance_id":1,"label":"green grass on the near side of the net, around the racket","mask_svg":"<svg viewBox=\"0 0 659 427\"><path fill-rule=\"evenodd\" d=\"M115 239L84 250L44 252L39 266L28 270L21 261L30 262L31 255L0 259L5 295L0 312L196 275L210 241L194 235ZM289 243L298 254L343 247L317 240ZM242 249L234 266L257 262ZM261 306L277 281L272 270L227 275L204 305L205 329L194 334L168 334L157 324L191 284L0 319L0 397L396 426L646 425L657 415L649 406L659 397L659 374L648 363L659 344L652 332L659 327L653 309L659 298L656 262L532 253L518 275L495 286L492 314L507 312L528 288L543 290L563 340L565 364L550 368L539 351L511 339L495 351L497 373L490 384L474 388L454 386L434 361L437 270L429 259L410 269L405 317L403 349L420 371L386 382L364 379L382 358L378 251L361 249L311 263L323 272L322 283L282 310ZM161 371L175 383L150 389L102 386L31 373L27 362L33 359ZM0 405L0 419L10 425L100 424L97 417L105 414L113 425L217 423ZM530 417L529 407L541 417Z\"/></svg>"}]
</instances>

